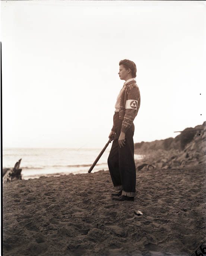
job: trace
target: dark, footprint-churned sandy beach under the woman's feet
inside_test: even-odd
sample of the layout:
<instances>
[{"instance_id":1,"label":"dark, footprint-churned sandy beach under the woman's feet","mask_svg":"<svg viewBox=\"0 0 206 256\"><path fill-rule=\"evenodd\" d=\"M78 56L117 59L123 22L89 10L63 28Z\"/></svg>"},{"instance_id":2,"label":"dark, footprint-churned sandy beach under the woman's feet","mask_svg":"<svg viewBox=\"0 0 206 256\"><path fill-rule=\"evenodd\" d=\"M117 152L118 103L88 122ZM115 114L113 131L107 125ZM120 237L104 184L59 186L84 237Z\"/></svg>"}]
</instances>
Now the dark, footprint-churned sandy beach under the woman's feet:
<instances>
[{"instance_id":1,"label":"dark, footprint-churned sandy beach under the woman's feet","mask_svg":"<svg viewBox=\"0 0 206 256\"><path fill-rule=\"evenodd\" d=\"M205 176L205 164L137 171L134 202L111 199L109 171L3 184L3 255L191 255L206 238Z\"/></svg>"}]
</instances>

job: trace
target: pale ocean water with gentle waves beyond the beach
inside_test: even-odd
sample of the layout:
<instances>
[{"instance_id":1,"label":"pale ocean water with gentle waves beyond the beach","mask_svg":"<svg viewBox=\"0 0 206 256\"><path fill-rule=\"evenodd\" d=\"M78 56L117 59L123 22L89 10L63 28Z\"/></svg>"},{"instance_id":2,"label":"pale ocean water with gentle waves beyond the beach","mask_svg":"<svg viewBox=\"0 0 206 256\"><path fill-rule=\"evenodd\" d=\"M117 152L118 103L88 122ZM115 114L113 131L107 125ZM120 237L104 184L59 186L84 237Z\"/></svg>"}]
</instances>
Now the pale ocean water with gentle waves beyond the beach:
<instances>
[{"instance_id":1,"label":"pale ocean water with gentle waves beyond the beach","mask_svg":"<svg viewBox=\"0 0 206 256\"><path fill-rule=\"evenodd\" d=\"M64 174L87 173L102 149L72 148L4 148L3 168L14 167L19 159L22 179L39 178L40 176L59 176ZM92 172L108 170L107 148ZM142 155L134 155L135 159Z\"/></svg>"}]
</instances>

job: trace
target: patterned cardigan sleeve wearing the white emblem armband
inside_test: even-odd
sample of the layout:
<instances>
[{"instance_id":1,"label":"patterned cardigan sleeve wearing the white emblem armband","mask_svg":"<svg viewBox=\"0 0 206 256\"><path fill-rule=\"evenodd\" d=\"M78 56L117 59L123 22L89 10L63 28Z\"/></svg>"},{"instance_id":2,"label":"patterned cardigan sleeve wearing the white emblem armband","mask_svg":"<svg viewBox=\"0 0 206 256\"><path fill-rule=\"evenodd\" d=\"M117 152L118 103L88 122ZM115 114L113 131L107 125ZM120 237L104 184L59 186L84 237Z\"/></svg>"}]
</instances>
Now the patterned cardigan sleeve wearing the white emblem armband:
<instances>
[{"instance_id":1,"label":"patterned cardigan sleeve wearing the white emblem armband","mask_svg":"<svg viewBox=\"0 0 206 256\"><path fill-rule=\"evenodd\" d=\"M134 121L140 107L140 92L137 86L128 90L126 112L121 126L121 132L126 133Z\"/></svg>"}]
</instances>

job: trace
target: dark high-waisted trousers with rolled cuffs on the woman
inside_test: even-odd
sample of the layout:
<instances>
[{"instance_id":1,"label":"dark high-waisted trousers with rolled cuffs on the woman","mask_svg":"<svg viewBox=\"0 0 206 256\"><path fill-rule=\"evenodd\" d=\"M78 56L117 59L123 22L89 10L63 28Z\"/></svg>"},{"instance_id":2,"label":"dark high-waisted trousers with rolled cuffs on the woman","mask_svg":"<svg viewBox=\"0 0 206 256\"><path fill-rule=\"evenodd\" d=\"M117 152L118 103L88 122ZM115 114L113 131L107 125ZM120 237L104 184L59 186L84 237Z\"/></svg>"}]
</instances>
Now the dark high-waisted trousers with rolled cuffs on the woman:
<instances>
[{"instance_id":1,"label":"dark high-waisted trousers with rolled cuffs on the woman","mask_svg":"<svg viewBox=\"0 0 206 256\"><path fill-rule=\"evenodd\" d=\"M134 124L125 133L126 144L120 148L118 139L122 121L119 112L114 114L115 138L108 157L108 167L115 190L122 189L122 195L133 197L136 192L136 167L134 162Z\"/></svg>"}]
</instances>

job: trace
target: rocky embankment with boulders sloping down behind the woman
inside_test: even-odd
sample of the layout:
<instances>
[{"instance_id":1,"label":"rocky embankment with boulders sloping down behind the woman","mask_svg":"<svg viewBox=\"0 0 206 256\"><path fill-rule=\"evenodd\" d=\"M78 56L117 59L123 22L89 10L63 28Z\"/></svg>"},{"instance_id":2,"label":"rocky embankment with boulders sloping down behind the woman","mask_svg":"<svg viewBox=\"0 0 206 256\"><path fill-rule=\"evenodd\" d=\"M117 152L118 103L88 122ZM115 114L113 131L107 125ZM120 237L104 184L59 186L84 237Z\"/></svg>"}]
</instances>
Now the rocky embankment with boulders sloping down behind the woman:
<instances>
[{"instance_id":1,"label":"rocky embankment with boulders sloping down behind the woman","mask_svg":"<svg viewBox=\"0 0 206 256\"><path fill-rule=\"evenodd\" d=\"M172 169L206 164L206 121L184 129L175 138L134 144L135 154L145 157L136 161L137 170Z\"/></svg>"}]
</instances>

